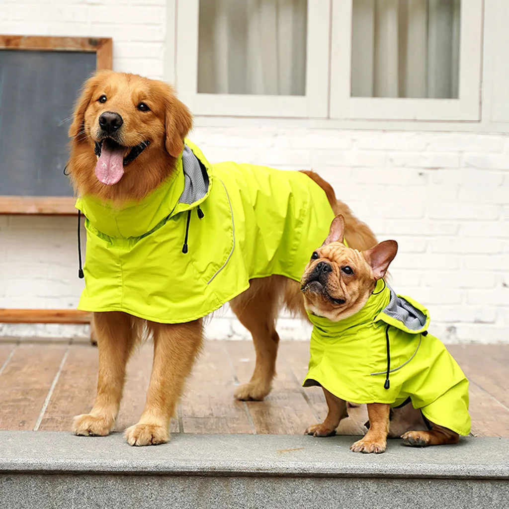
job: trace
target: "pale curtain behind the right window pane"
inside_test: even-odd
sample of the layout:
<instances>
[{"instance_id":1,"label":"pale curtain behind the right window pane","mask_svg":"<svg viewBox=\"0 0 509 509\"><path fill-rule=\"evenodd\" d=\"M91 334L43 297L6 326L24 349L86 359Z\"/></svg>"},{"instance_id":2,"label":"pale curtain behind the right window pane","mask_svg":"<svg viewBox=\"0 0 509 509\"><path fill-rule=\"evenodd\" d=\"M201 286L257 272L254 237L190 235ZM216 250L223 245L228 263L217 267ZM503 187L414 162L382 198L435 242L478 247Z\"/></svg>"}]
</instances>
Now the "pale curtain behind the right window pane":
<instances>
[{"instance_id":1,"label":"pale curtain behind the right window pane","mask_svg":"<svg viewBox=\"0 0 509 509\"><path fill-rule=\"evenodd\" d=\"M352 96L457 98L461 0L353 0Z\"/></svg>"}]
</instances>

